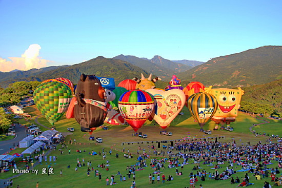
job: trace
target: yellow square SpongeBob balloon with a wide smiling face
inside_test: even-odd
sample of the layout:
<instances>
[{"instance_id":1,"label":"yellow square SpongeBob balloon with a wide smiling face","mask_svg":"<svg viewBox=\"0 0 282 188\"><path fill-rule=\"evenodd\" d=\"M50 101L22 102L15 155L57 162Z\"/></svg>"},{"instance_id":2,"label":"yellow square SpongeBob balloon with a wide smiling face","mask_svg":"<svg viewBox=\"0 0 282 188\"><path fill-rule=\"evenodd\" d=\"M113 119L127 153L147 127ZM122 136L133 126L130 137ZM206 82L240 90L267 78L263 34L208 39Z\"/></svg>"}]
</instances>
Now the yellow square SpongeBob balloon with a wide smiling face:
<instances>
[{"instance_id":1,"label":"yellow square SpongeBob balloon with a wide smiling face","mask_svg":"<svg viewBox=\"0 0 282 188\"><path fill-rule=\"evenodd\" d=\"M229 125L230 122L234 122L238 115L241 96L244 95L244 91L240 87L238 89L213 89L210 86L205 88L205 92L214 95L218 102L217 110L211 120L215 121L216 124L224 122Z\"/></svg>"}]
</instances>

